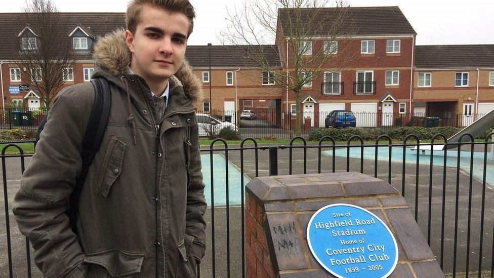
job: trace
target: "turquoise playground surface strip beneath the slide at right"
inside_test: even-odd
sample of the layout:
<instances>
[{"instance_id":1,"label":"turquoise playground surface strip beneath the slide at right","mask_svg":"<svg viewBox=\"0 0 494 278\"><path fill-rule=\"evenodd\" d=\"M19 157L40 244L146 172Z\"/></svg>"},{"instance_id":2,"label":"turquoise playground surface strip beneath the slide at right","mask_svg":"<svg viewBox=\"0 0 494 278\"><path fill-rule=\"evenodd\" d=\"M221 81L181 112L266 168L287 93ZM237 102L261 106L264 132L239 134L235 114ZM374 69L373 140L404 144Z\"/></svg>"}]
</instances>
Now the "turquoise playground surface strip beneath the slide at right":
<instances>
[{"instance_id":1,"label":"turquoise playground surface strip beneath the slide at right","mask_svg":"<svg viewBox=\"0 0 494 278\"><path fill-rule=\"evenodd\" d=\"M417 163L417 150L411 150L411 148L405 149L405 163L416 164ZM332 155L332 150L322 151L323 154L327 156ZM366 160L375 160L376 157L375 147L364 147L363 158ZM431 151L426 150L425 153L420 150L419 152L419 164L430 165L431 163ZM444 166L444 151L434 150L434 156L432 160L432 165L434 166ZM360 158L360 147L350 148L350 158ZM458 163L458 150L448 150L446 152L446 166L447 167L457 167ZM336 149L335 156L347 157L347 149L341 148ZM470 151L460 151L460 169L466 173L470 173ZM382 146L378 148L378 161L388 161L389 160L389 147ZM391 148L391 161L402 163L403 162L403 147L392 147ZM360 169L360 168L359 168ZM487 165L486 165L486 176L485 183L493 186L494 185L494 163L490 161L490 151L487 153ZM474 152L473 154L473 177L482 181L484 171L484 153Z\"/></svg>"}]
</instances>

